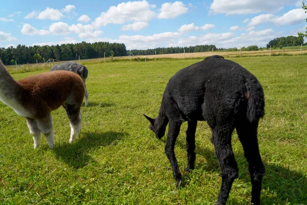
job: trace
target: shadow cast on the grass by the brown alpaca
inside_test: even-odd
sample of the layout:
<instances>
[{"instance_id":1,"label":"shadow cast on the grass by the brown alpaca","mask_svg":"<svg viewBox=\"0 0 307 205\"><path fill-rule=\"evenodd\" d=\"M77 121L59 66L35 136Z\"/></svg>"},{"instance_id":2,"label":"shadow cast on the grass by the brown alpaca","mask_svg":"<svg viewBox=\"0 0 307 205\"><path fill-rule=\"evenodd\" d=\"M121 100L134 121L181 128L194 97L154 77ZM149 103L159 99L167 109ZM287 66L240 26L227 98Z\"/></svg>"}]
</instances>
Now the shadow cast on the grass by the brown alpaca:
<instances>
[{"instance_id":1,"label":"shadow cast on the grass by the brown alpaca","mask_svg":"<svg viewBox=\"0 0 307 205\"><path fill-rule=\"evenodd\" d=\"M86 133L85 137L77 137L72 144L64 142L56 146L54 153L59 160L74 169L79 169L94 161L87 154L90 150L115 145L125 135L127 135L125 132Z\"/></svg>"}]
</instances>

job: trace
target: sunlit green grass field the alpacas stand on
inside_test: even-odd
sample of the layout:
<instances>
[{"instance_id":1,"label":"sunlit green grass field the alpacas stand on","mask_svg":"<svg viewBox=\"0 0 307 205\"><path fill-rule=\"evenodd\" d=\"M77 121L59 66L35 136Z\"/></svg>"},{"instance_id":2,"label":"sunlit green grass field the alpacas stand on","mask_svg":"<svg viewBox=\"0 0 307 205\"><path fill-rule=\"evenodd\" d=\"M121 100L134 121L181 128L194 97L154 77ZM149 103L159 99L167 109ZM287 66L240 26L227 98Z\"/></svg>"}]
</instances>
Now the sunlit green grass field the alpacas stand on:
<instances>
[{"instance_id":1,"label":"sunlit green grass field the alpacas stand on","mask_svg":"<svg viewBox=\"0 0 307 205\"><path fill-rule=\"evenodd\" d=\"M230 58L260 81L266 115L258 129L266 166L262 204L307 204L307 56ZM201 59L85 64L89 106L83 128L69 144L69 120L53 111L55 149L45 137L33 149L26 120L0 103L1 204L213 204L220 168L206 122L196 131L195 170L186 167L185 130L176 142L184 187L177 190L164 153L143 113L156 117L168 79ZM21 79L45 70L17 72ZM84 105L84 104L83 104ZM243 148L233 133L239 177L228 204L250 204L251 183Z\"/></svg>"}]
</instances>

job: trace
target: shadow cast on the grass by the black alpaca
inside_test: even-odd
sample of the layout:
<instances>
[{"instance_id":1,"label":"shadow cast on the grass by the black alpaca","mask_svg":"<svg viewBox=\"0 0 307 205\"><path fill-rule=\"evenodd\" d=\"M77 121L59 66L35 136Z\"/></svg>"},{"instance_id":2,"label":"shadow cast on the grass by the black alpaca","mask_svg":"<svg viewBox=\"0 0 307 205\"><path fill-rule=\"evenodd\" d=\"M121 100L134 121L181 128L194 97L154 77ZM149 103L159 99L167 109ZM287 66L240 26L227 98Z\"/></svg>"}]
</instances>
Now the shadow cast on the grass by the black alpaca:
<instances>
[{"instance_id":1,"label":"shadow cast on the grass by the black alpaca","mask_svg":"<svg viewBox=\"0 0 307 205\"><path fill-rule=\"evenodd\" d=\"M185 144L178 140L176 145L185 148ZM218 160L214 150L195 148L195 153L200 154L206 159L206 166L200 164L195 169L203 169L210 172L220 172ZM250 173L248 171L248 162L243 153L235 154L239 168L239 179L250 182ZM186 158L187 160L187 158ZM197 160L197 159L196 159ZM290 170L287 165L275 165L274 163L265 163L266 174L262 180L262 204L306 204L307 203L307 174ZM190 176L183 173L183 178L190 181ZM185 183L185 182L184 182ZM188 183L186 184L188 185ZM229 201L230 202L230 201ZM230 204L236 204L231 200Z\"/></svg>"}]
</instances>

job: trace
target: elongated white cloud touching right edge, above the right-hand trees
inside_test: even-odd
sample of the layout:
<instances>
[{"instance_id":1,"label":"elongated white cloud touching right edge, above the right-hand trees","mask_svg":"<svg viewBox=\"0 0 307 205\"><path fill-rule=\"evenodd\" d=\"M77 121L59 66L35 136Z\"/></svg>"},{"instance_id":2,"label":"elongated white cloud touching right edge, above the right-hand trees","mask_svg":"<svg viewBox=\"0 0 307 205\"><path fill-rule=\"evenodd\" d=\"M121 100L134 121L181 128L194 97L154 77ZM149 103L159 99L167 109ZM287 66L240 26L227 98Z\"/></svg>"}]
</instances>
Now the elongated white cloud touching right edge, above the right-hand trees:
<instances>
[{"instance_id":1,"label":"elongated white cloud touching right edge, above the right-hand trees","mask_svg":"<svg viewBox=\"0 0 307 205\"><path fill-rule=\"evenodd\" d=\"M302 23L307 15L303 9L293 9L282 16L273 14L261 14L251 19L248 26L256 26L260 24L271 23L276 26L294 25Z\"/></svg>"}]
</instances>

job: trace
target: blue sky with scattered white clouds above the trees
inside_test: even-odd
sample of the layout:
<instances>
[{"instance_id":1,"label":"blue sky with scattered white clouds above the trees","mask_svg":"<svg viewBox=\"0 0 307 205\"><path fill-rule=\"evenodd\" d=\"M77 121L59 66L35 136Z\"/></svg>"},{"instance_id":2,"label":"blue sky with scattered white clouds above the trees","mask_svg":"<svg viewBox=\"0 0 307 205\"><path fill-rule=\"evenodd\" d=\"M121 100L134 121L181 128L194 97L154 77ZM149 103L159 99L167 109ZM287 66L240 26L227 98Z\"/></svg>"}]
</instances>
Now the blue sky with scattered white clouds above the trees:
<instances>
[{"instance_id":1,"label":"blue sky with scattered white clouds above the trees","mask_svg":"<svg viewBox=\"0 0 307 205\"><path fill-rule=\"evenodd\" d=\"M2 1L0 47L78 42L129 49L265 47L306 29L302 0Z\"/></svg>"}]
</instances>

